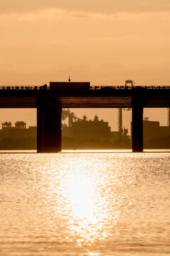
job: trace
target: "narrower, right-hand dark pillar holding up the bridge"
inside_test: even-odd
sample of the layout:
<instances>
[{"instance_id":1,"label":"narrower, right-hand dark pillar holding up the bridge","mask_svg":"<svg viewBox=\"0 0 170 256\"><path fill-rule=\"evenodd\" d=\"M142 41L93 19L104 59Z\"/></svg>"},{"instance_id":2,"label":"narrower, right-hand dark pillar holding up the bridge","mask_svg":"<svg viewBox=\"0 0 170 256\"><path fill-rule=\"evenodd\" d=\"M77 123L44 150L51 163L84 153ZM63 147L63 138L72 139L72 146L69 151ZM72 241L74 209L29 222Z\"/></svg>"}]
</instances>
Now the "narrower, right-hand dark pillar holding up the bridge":
<instances>
[{"instance_id":1,"label":"narrower, right-hand dark pillar holding up the bridge","mask_svg":"<svg viewBox=\"0 0 170 256\"><path fill-rule=\"evenodd\" d=\"M132 151L143 151L143 106L139 98L132 99Z\"/></svg>"}]
</instances>

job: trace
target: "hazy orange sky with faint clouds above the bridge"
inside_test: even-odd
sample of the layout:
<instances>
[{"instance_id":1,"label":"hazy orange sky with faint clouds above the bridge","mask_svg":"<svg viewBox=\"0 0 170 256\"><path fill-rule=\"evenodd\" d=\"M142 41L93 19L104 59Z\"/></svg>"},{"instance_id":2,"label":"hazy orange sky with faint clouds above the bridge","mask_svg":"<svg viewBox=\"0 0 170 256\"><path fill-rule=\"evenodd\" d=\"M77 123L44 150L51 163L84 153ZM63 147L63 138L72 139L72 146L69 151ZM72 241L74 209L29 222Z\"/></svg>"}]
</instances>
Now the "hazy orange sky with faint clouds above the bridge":
<instances>
[{"instance_id":1,"label":"hazy orange sky with faint clouds above the bridge","mask_svg":"<svg viewBox=\"0 0 170 256\"><path fill-rule=\"evenodd\" d=\"M1 0L0 85L169 85L169 28L169 0Z\"/></svg>"}]
</instances>

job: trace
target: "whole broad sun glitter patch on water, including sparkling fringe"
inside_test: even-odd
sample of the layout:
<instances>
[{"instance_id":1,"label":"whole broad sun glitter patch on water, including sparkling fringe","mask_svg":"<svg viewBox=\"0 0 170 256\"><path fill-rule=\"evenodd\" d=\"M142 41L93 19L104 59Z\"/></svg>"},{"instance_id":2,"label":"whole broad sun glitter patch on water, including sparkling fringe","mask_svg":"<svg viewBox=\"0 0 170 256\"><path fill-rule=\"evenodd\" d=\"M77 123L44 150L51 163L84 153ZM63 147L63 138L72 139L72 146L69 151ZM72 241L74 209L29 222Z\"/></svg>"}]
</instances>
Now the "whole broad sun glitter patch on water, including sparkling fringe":
<instances>
[{"instance_id":1,"label":"whole broad sun glitter patch on water, including sparkling fringe","mask_svg":"<svg viewBox=\"0 0 170 256\"><path fill-rule=\"evenodd\" d=\"M115 190L121 186L118 172L113 174L111 186L108 174L100 166L91 159L74 159L62 171L52 165L46 173L47 208L54 216L50 225L62 230L66 244L71 242L78 250L86 249L88 255L99 255L96 243L101 241L102 245L111 238L120 214L121 198Z\"/></svg>"}]
</instances>

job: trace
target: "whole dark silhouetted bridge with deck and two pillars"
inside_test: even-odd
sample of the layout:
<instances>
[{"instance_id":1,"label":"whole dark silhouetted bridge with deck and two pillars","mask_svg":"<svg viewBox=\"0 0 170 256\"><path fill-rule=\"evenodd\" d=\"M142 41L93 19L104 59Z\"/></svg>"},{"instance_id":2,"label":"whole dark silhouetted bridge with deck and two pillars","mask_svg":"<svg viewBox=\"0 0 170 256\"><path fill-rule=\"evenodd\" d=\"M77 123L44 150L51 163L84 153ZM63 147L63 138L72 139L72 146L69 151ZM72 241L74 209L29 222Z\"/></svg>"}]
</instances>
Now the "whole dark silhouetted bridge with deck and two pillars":
<instances>
[{"instance_id":1,"label":"whole dark silhouetted bridge with deck and two pillars","mask_svg":"<svg viewBox=\"0 0 170 256\"><path fill-rule=\"evenodd\" d=\"M143 108L170 107L170 86L90 86L89 82L57 84L60 88L47 85L0 87L1 108L37 108L38 152L62 150L62 108L132 108L132 151L142 152ZM86 88L80 87L84 84ZM64 90L62 85L69 87Z\"/></svg>"}]
</instances>

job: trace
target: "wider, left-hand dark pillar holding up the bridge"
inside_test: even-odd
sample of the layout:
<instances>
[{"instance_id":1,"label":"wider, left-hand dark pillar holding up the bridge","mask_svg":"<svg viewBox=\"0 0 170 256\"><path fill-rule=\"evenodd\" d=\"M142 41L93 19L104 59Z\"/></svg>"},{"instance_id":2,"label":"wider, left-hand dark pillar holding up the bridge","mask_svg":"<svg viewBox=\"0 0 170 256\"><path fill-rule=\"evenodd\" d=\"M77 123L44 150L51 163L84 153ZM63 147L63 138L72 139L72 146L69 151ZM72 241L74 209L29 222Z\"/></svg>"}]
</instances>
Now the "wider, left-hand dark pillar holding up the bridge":
<instances>
[{"instance_id":1,"label":"wider, left-hand dark pillar holding up the bridge","mask_svg":"<svg viewBox=\"0 0 170 256\"><path fill-rule=\"evenodd\" d=\"M50 100L37 103L37 151L62 151L62 108L52 105Z\"/></svg>"}]
</instances>

